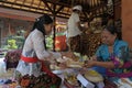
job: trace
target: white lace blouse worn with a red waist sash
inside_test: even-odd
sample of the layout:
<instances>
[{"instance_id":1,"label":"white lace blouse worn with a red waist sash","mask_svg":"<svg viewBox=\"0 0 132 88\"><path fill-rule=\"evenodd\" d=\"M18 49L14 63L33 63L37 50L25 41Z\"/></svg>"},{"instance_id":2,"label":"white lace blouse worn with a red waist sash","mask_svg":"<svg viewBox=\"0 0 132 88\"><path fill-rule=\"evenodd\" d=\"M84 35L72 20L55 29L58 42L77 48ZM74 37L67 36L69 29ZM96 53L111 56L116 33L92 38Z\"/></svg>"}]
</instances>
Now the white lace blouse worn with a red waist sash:
<instances>
[{"instance_id":1,"label":"white lace blouse worn with a red waist sash","mask_svg":"<svg viewBox=\"0 0 132 88\"><path fill-rule=\"evenodd\" d=\"M28 38L25 40L22 55L26 57L37 56L38 59L45 59L48 56L51 56L51 53L53 58L61 57L59 53L45 51L44 36L42 32L40 32L36 29L33 32L31 32ZM40 62L25 63L24 61L21 59L18 64L16 70L19 70L22 75L29 74L34 75L36 77L42 73Z\"/></svg>"}]
</instances>

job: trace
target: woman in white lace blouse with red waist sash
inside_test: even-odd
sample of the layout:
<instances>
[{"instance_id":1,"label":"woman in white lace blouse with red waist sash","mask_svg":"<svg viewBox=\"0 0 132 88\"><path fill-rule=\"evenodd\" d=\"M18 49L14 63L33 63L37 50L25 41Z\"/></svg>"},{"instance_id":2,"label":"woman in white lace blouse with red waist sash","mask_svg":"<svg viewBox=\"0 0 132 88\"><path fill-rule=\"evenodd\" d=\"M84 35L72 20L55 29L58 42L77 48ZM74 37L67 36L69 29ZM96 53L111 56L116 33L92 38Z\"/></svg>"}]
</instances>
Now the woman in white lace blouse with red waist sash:
<instances>
[{"instance_id":1,"label":"woman in white lace blouse with red waist sash","mask_svg":"<svg viewBox=\"0 0 132 88\"><path fill-rule=\"evenodd\" d=\"M70 55L70 53L46 50L45 35L52 32L52 18L44 14L36 19L25 40L21 59L15 70L15 78L24 88L59 88L62 79L53 74L47 65L62 55Z\"/></svg>"}]
</instances>

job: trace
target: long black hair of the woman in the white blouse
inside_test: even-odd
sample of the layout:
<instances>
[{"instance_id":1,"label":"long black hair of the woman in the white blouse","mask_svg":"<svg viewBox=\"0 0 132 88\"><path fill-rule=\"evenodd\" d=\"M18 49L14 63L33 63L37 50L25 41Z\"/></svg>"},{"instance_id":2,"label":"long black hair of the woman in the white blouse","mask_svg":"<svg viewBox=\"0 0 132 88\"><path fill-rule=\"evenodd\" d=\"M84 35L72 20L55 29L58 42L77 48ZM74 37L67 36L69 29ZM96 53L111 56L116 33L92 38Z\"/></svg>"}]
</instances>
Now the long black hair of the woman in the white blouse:
<instances>
[{"instance_id":1,"label":"long black hair of the woman in the white blouse","mask_svg":"<svg viewBox=\"0 0 132 88\"><path fill-rule=\"evenodd\" d=\"M37 29L45 35L44 24L50 24L50 23L53 23L52 18L47 14L44 14L36 19L36 21L34 22L33 29L31 31Z\"/></svg>"}]
</instances>

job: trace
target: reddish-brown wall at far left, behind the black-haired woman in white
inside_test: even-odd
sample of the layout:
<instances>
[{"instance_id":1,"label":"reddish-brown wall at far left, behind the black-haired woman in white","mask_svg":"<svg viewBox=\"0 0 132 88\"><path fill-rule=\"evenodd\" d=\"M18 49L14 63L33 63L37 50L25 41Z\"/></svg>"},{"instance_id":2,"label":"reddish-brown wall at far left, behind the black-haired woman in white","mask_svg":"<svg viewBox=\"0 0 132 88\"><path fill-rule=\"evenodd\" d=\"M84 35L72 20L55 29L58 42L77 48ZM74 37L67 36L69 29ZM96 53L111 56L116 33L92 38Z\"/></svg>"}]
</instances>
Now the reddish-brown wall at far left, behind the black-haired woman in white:
<instances>
[{"instance_id":1,"label":"reddish-brown wall at far left, behind the black-haired woman in white","mask_svg":"<svg viewBox=\"0 0 132 88\"><path fill-rule=\"evenodd\" d=\"M7 44L10 35L18 35L20 31L29 32L33 26L32 21L9 19L0 16L0 47Z\"/></svg>"}]
</instances>

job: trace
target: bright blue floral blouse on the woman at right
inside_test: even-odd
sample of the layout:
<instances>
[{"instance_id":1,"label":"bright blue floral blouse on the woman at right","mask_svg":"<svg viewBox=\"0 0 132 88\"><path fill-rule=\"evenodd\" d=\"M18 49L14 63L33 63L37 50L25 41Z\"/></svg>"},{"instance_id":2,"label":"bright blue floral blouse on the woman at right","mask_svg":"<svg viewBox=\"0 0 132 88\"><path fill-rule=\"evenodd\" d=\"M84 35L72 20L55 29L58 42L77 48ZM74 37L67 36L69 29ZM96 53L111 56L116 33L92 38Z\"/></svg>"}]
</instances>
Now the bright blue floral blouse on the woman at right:
<instances>
[{"instance_id":1,"label":"bright blue floral blouse on the woman at right","mask_svg":"<svg viewBox=\"0 0 132 88\"><path fill-rule=\"evenodd\" d=\"M96 56L98 57L98 61L103 61L103 62L112 61L113 62L116 68L109 69L109 73L107 73L108 76L111 76L110 73L119 76L121 74L132 72L131 66L129 66L127 68L125 67L119 68L119 65L123 66L127 62L129 62L129 45L124 41L116 40L112 54L109 53L108 46L106 44L102 44L97 50ZM128 75L128 76L130 76L130 75ZM131 76L132 76L132 73L131 73ZM123 77L123 76L121 75L119 77ZM127 75L125 75L125 77L127 77Z\"/></svg>"}]
</instances>

